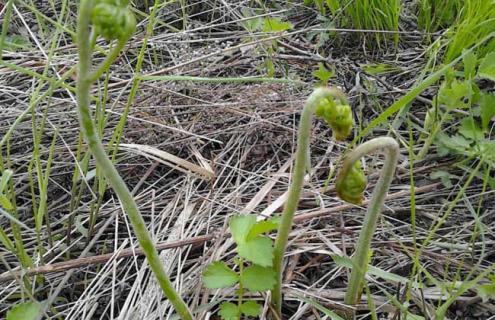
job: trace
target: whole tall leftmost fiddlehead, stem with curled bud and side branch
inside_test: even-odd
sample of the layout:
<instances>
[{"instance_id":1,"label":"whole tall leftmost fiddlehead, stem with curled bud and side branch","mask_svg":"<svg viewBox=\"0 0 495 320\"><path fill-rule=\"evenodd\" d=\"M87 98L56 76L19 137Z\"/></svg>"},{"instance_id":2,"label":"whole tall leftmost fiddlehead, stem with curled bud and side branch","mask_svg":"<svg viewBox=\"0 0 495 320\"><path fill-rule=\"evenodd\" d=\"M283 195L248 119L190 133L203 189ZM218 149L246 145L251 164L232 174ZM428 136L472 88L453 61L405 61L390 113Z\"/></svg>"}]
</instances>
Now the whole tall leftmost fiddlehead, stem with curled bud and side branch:
<instances>
[{"instance_id":1,"label":"whole tall leftmost fiddlehead, stem with curled bud and side branch","mask_svg":"<svg viewBox=\"0 0 495 320\"><path fill-rule=\"evenodd\" d=\"M132 194L103 148L90 112L91 85L108 71L136 28L136 20L128 7L128 2L128 0L102 0L98 2L82 0L80 2L77 19L79 64L76 86L79 121L97 166L105 175L129 216L139 244L163 293L182 319L192 320L193 317L187 305L175 291L166 275L158 251L153 245L153 240L146 229L146 224ZM95 70L91 70L92 54L98 36L102 36L112 43L113 47L105 60Z\"/></svg>"}]
</instances>

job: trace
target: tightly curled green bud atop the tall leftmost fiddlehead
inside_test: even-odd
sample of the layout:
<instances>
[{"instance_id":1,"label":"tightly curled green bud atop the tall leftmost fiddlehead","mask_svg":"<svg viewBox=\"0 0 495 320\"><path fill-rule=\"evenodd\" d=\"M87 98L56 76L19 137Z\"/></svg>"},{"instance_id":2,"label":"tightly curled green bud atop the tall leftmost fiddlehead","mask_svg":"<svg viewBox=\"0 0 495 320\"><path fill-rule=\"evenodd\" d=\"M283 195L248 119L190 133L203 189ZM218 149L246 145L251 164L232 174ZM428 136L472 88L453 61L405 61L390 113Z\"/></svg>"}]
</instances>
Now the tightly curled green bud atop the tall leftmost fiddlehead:
<instances>
[{"instance_id":1,"label":"tightly curled green bud atop the tall leftmost fiddlehead","mask_svg":"<svg viewBox=\"0 0 495 320\"><path fill-rule=\"evenodd\" d=\"M136 18L123 3L125 1L107 0L97 4L91 12L91 22L108 41L127 41L136 30Z\"/></svg>"}]
</instances>

